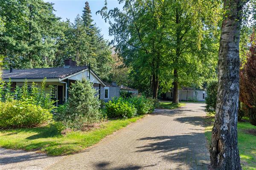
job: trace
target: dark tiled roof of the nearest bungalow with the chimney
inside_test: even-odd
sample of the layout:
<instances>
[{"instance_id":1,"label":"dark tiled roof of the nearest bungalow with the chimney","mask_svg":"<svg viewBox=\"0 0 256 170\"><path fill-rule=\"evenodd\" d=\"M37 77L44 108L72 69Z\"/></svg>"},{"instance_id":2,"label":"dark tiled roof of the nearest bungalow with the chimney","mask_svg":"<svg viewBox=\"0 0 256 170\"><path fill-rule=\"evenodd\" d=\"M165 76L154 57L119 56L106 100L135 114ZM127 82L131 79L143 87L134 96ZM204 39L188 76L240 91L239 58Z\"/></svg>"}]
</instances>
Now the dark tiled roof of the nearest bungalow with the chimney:
<instances>
[{"instance_id":1,"label":"dark tiled roof of the nearest bungalow with the chimney","mask_svg":"<svg viewBox=\"0 0 256 170\"><path fill-rule=\"evenodd\" d=\"M72 66L68 68L13 69L12 72L10 70L3 70L2 78L65 78L87 68L87 66Z\"/></svg>"}]
</instances>

